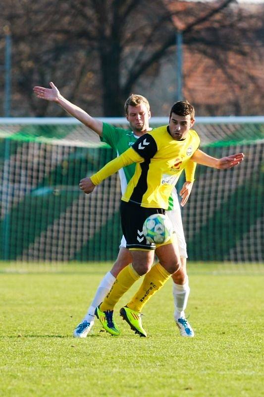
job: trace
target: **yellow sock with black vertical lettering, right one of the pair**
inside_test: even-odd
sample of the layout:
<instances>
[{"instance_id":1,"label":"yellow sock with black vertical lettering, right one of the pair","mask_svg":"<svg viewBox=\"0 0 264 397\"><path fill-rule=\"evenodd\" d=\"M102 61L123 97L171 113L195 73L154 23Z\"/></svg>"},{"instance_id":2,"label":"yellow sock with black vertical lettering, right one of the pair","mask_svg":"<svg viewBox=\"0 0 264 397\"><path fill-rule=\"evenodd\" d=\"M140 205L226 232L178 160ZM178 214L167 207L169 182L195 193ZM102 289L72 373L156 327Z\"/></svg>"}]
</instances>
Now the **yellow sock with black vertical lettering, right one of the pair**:
<instances>
[{"instance_id":1,"label":"yellow sock with black vertical lettering, right one of the pair","mask_svg":"<svg viewBox=\"0 0 264 397\"><path fill-rule=\"evenodd\" d=\"M148 300L165 284L170 277L170 273L164 269L160 263L154 265L151 270L145 274L144 280L133 296L127 307L137 312L141 312L143 306Z\"/></svg>"}]
</instances>

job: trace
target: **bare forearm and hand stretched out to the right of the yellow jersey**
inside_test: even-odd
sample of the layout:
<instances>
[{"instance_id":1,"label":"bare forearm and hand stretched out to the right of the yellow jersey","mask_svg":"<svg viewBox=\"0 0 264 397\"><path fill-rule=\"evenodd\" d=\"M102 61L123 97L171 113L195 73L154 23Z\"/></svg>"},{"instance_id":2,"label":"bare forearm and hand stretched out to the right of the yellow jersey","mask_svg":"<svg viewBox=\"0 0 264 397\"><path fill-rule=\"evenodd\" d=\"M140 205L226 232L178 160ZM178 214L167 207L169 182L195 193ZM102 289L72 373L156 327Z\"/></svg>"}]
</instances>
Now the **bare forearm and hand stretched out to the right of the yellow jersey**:
<instances>
[{"instance_id":1,"label":"bare forearm and hand stretched out to the right of the yellow jersey","mask_svg":"<svg viewBox=\"0 0 264 397\"><path fill-rule=\"evenodd\" d=\"M217 159L198 149L194 152L191 159L198 164L217 168L218 170L226 170L240 164L244 160L244 153L231 154L230 156Z\"/></svg>"}]
</instances>

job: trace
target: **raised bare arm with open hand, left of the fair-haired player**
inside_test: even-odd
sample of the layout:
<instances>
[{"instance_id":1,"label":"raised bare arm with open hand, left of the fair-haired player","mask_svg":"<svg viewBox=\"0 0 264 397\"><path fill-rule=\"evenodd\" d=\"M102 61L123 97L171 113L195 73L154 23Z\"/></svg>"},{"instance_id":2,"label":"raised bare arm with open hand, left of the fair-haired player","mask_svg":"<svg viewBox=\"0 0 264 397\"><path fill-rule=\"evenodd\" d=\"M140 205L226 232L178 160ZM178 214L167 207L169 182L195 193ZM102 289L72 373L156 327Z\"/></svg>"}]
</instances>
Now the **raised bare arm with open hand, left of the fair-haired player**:
<instances>
[{"instance_id":1,"label":"raised bare arm with open hand, left of the fair-haired player","mask_svg":"<svg viewBox=\"0 0 264 397\"><path fill-rule=\"evenodd\" d=\"M50 86L52 88L36 86L33 88L33 91L36 94L37 98L41 98L41 99L45 99L46 101L57 103L64 110L66 110L66 112L68 112L71 116L75 117L85 126L89 127L91 130L98 133L98 135L102 136L102 132L103 132L102 121L94 119L84 110L74 105L67 99L63 98L63 96L60 94L59 90L53 84L52 81L50 82Z\"/></svg>"}]
</instances>

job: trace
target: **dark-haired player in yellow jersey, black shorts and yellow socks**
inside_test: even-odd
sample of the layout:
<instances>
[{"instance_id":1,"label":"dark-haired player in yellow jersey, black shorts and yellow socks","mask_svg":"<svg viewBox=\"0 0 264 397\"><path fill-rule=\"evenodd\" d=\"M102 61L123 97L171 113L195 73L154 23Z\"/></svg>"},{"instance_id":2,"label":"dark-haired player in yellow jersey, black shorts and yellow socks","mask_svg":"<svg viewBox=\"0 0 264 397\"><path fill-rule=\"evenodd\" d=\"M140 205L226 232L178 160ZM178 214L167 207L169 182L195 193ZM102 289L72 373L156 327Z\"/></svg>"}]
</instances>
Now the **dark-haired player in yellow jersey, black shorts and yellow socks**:
<instances>
[{"instance_id":1,"label":"dark-haired player in yellow jersey, black shorts and yellow socks","mask_svg":"<svg viewBox=\"0 0 264 397\"><path fill-rule=\"evenodd\" d=\"M149 215L164 213L171 191L186 163L191 158L197 161L195 152L200 139L192 130L193 124L193 106L188 102L177 102L171 109L168 126L144 134L131 148L106 164L97 174L80 182L80 188L85 193L91 193L96 185L119 168L137 163L120 207L123 234L133 262L121 270L112 289L96 309L103 327L113 335L120 333L113 320L115 304L139 277L146 274L137 293L120 310L131 329L146 336L141 322L141 310L169 276L180 268L179 253L172 240L157 247L148 244L145 238L142 239L142 226ZM198 152L197 162L219 168L219 160ZM229 156L227 166L221 168L229 168L242 160L243 153ZM151 267L155 249L159 263Z\"/></svg>"}]
</instances>

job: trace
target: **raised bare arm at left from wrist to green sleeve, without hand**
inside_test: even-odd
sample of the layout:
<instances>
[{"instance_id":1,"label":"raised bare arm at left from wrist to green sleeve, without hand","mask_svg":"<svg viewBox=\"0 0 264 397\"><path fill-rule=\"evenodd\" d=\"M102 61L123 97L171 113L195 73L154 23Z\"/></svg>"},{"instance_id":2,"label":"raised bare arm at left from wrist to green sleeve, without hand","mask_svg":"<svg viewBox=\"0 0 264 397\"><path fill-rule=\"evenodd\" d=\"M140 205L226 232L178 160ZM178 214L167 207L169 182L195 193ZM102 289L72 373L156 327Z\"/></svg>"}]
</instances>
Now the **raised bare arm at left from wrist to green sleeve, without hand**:
<instances>
[{"instance_id":1,"label":"raised bare arm at left from wrist to green sleeve, without hand","mask_svg":"<svg viewBox=\"0 0 264 397\"><path fill-rule=\"evenodd\" d=\"M86 113L83 109L74 105L67 99L65 99L62 95L58 95L57 104L61 106L67 113L71 116L75 117L75 119L79 120L81 123L91 128L93 131L97 132L101 135L103 131L103 122L100 120L96 120L91 117L88 113Z\"/></svg>"}]
</instances>

